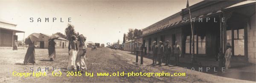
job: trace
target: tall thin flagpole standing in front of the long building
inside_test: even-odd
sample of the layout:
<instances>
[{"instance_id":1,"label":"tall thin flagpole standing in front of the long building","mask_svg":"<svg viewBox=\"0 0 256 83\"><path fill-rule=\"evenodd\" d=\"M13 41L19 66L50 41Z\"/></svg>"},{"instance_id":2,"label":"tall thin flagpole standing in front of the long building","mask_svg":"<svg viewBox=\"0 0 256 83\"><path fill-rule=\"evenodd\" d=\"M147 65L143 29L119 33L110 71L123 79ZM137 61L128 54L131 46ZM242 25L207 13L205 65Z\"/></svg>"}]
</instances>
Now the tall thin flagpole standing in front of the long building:
<instances>
[{"instance_id":1,"label":"tall thin flagpole standing in front of the long building","mask_svg":"<svg viewBox=\"0 0 256 83\"><path fill-rule=\"evenodd\" d=\"M192 57L191 57L191 64L193 64L194 61L194 55L195 55L195 39L194 39L194 30L192 26L192 21L191 21L191 13L190 13L190 8L189 8L189 0L187 0L187 8L189 10L189 18L190 18L190 26L191 26L191 33L192 33Z\"/></svg>"}]
</instances>

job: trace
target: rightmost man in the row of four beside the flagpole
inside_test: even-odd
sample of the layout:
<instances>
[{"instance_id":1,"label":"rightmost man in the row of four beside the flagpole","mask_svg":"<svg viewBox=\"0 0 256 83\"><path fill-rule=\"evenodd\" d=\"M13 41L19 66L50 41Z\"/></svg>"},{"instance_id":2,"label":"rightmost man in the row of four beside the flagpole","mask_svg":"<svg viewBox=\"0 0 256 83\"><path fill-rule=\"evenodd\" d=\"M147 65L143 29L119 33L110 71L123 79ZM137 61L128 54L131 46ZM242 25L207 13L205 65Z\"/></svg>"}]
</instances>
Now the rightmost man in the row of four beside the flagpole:
<instances>
[{"instance_id":1,"label":"rightmost man in the row of four beside the flagpole","mask_svg":"<svg viewBox=\"0 0 256 83\"><path fill-rule=\"evenodd\" d=\"M174 51L173 53L175 56L176 66L178 66L179 65L179 56L181 55L181 48L177 41L175 41L175 45L173 46L173 51Z\"/></svg>"}]
</instances>

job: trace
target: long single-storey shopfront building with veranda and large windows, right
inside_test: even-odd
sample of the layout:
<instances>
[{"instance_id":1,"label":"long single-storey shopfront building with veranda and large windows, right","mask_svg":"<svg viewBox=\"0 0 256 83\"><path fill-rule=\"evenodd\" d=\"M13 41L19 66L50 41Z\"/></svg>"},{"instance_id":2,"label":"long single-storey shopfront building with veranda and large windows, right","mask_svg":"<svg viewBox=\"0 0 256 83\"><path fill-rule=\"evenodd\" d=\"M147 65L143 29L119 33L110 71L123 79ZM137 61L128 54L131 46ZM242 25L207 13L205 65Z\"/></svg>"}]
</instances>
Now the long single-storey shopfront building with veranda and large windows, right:
<instances>
[{"instance_id":1,"label":"long single-storey shopfront building with veranda and large windows, right","mask_svg":"<svg viewBox=\"0 0 256 83\"><path fill-rule=\"evenodd\" d=\"M194 41L187 8L143 29L145 54L151 55L153 41L177 41L182 49L181 58L191 58L195 44L197 60L214 61L218 49L232 45L233 62L256 63L255 1L204 0L190 6ZM191 59L188 59L191 60Z\"/></svg>"}]
</instances>

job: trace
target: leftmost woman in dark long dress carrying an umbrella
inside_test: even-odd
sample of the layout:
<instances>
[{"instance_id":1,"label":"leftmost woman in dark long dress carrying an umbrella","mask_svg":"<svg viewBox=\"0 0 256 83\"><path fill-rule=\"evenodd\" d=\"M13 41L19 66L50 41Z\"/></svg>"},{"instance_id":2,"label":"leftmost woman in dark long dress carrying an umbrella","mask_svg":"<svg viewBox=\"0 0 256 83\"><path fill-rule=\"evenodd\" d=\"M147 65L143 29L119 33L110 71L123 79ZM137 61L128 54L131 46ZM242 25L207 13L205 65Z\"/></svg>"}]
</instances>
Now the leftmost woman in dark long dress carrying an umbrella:
<instances>
[{"instance_id":1,"label":"leftmost woman in dark long dress carrying an umbrella","mask_svg":"<svg viewBox=\"0 0 256 83\"><path fill-rule=\"evenodd\" d=\"M27 41L31 41L30 39L27 39ZM26 64L35 64L35 44L34 42L29 43L29 48L26 52L24 61L23 61L24 65Z\"/></svg>"}]
</instances>

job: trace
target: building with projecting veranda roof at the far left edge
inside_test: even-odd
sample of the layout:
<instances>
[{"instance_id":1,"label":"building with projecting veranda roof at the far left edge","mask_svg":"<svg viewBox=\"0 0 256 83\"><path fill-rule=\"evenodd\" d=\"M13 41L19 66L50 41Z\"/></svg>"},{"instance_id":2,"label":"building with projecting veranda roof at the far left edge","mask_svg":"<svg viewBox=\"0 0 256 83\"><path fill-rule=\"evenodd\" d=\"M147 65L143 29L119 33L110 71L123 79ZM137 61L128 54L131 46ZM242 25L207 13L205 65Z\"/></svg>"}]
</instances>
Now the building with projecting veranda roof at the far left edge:
<instances>
[{"instance_id":1,"label":"building with projecting veranda roof at the far left edge","mask_svg":"<svg viewBox=\"0 0 256 83\"><path fill-rule=\"evenodd\" d=\"M25 33L15 30L17 25L0 21L0 47L13 47L14 41L18 39L16 33Z\"/></svg>"}]
</instances>

